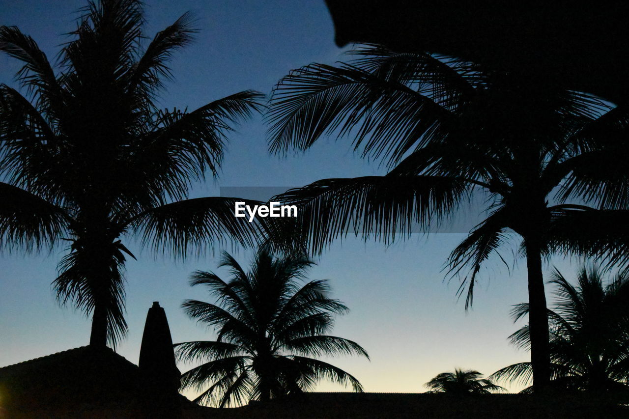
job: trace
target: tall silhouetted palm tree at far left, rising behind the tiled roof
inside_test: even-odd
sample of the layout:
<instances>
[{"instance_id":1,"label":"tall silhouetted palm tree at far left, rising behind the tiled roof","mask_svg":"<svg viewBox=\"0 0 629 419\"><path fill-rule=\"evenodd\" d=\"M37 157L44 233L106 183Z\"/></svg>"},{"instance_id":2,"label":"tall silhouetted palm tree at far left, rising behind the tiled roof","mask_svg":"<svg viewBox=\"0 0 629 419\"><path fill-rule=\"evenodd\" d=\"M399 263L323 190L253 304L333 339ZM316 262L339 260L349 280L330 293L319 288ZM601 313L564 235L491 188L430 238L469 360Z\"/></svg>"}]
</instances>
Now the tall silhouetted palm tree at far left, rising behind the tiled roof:
<instances>
[{"instance_id":1,"label":"tall silhouetted palm tree at far left, rising behind the tiled roof","mask_svg":"<svg viewBox=\"0 0 629 419\"><path fill-rule=\"evenodd\" d=\"M233 217L235 199L188 199L218 174L231 125L259 111L243 91L194 111L159 109L169 61L192 41L183 14L145 48L140 0L90 1L55 69L35 41L0 27L0 50L23 63L28 93L0 85L0 239L37 250L69 240L53 282L60 303L92 315L90 343L126 332L122 237L183 256L213 242L252 245L257 228Z\"/></svg>"}]
</instances>

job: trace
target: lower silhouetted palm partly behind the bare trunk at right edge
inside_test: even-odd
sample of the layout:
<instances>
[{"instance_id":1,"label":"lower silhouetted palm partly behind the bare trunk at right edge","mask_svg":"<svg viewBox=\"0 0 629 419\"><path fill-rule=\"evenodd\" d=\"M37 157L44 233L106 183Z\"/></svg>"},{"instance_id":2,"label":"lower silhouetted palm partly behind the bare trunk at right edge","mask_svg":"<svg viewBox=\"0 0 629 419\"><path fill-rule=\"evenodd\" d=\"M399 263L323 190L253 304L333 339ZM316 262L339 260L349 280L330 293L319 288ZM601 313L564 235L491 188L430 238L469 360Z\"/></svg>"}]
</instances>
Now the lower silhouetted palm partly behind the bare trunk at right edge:
<instances>
[{"instance_id":1,"label":"lower silhouetted palm partly behind the bare trunk at right edge","mask_svg":"<svg viewBox=\"0 0 629 419\"><path fill-rule=\"evenodd\" d=\"M618 274L605 285L598 269L584 267L576 286L559 271L554 272L550 282L556 287L554 310L548 311L552 384L560 389L627 393L629 277ZM518 304L513 310L515 320L528 312L528 304ZM528 349L528 327L520 328L510 339ZM531 364L513 364L491 377L530 384Z\"/></svg>"}]
</instances>

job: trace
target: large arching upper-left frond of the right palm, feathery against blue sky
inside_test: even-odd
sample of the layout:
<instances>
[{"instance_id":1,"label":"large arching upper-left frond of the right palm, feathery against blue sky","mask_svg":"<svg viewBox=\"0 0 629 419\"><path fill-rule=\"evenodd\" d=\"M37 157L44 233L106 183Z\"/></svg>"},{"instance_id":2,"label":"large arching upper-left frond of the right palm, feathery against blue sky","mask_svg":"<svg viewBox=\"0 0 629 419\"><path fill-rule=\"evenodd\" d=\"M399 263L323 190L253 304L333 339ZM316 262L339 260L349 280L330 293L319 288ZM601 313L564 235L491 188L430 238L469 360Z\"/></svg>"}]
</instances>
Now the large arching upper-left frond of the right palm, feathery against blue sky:
<instances>
[{"instance_id":1,"label":"large arching upper-left frond of the right palm, feathery against blue sky","mask_svg":"<svg viewBox=\"0 0 629 419\"><path fill-rule=\"evenodd\" d=\"M396 109L396 112L391 112ZM311 64L274 89L267 120L272 152L306 150L322 135L352 132L363 155L390 164L444 135L453 115L433 99L350 64Z\"/></svg>"}]
</instances>

